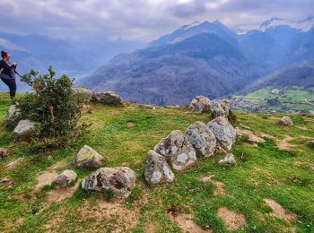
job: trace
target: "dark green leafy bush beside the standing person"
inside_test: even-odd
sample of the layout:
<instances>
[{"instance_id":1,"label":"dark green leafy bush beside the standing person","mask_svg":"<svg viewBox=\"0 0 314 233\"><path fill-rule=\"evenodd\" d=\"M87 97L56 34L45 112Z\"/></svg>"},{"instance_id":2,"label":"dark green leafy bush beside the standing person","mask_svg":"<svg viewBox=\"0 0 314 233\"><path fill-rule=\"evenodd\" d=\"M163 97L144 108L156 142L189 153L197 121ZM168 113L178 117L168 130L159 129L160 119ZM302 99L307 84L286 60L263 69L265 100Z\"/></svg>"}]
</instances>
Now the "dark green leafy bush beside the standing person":
<instances>
[{"instance_id":1,"label":"dark green leafy bush beside the standing person","mask_svg":"<svg viewBox=\"0 0 314 233\"><path fill-rule=\"evenodd\" d=\"M74 80L65 74L55 78L56 73L48 67L47 74L31 70L22 75L22 82L31 86L32 92L19 100L23 118L39 125L39 136L54 138L66 143L81 116L72 85Z\"/></svg>"}]
</instances>

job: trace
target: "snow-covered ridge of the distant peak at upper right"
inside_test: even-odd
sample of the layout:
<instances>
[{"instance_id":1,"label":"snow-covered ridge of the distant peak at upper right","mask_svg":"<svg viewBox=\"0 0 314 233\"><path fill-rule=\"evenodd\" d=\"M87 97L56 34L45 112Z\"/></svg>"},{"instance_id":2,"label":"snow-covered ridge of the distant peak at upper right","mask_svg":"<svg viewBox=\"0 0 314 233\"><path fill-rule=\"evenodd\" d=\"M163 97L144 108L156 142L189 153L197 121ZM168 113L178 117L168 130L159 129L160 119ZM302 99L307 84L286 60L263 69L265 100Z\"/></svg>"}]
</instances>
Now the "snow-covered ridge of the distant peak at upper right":
<instances>
[{"instance_id":1,"label":"snow-covered ridge of the distant peak at upper right","mask_svg":"<svg viewBox=\"0 0 314 233\"><path fill-rule=\"evenodd\" d=\"M260 24L259 30L265 31L266 29L272 29L277 26L290 26L293 29L308 31L314 27L314 16L309 16L305 19L272 18Z\"/></svg>"}]
</instances>

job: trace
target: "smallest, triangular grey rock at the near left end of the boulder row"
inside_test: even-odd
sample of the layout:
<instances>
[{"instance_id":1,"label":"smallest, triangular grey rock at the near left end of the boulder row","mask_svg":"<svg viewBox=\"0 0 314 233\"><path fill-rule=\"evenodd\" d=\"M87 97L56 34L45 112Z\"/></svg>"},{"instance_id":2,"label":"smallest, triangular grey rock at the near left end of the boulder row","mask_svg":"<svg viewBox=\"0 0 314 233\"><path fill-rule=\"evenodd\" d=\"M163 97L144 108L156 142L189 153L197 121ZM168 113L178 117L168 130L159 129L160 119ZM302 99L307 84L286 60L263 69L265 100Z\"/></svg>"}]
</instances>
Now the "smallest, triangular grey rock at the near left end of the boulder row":
<instances>
[{"instance_id":1,"label":"smallest, triangular grey rock at the near left end of the boulder row","mask_svg":"<svg viewBox=\"0 0 314 233\"><path fill-rule=\"evenodd\" d=\"M153 150L147 153L144 177L148 185L166 184L174 180L167 161Z\"/></svg>"}]
</instances>

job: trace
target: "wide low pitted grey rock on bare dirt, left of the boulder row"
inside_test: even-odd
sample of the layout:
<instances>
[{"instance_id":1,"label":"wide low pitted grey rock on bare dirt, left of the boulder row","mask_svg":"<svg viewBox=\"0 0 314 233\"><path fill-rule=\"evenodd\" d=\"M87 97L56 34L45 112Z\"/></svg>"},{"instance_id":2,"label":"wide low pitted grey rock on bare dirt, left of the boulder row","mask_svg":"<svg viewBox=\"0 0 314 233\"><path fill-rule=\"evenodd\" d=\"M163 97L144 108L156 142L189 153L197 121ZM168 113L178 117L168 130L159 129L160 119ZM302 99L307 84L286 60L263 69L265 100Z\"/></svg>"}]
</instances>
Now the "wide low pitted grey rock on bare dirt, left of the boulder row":
<instances>
[{"instance_id":1,"label":"wide low pitted grey rock on bare dirt, left of the boulder row","mask_svg":"<svg viewBox=\"0 0 314 233\"><path fill-rule=\"evenodd\" d=\"M99 168L82 182L87 191L110 193L117 198L127 198L135 187L136 175L126 167Z\"/></svg>"}]
</instances>

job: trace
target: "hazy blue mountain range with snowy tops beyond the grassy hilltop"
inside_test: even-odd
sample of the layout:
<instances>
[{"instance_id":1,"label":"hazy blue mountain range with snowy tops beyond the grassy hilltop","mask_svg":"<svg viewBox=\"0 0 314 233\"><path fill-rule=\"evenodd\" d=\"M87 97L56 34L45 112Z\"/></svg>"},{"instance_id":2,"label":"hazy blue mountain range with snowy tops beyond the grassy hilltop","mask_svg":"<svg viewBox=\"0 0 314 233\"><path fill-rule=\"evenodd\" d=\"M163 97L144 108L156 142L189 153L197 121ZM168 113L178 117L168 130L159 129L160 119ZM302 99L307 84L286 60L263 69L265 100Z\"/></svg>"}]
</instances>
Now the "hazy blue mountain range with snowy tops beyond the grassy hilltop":
<instances>
[{"instance_id":1,"label":"hazy blue mountain range with snowy tops beyond the grassy hilltop","mask_svg":"<svg viewBox=\"0 0 314 233\"><path fill-rule=\"evenodd\" d=\"M226 97L314 58L312 22L313 17L302 21L273 18L245 34L219 21L194 22L144 49L113 57L80 84L158 105L185 105L196 95Z\"/></svg>"}]
</instances>

